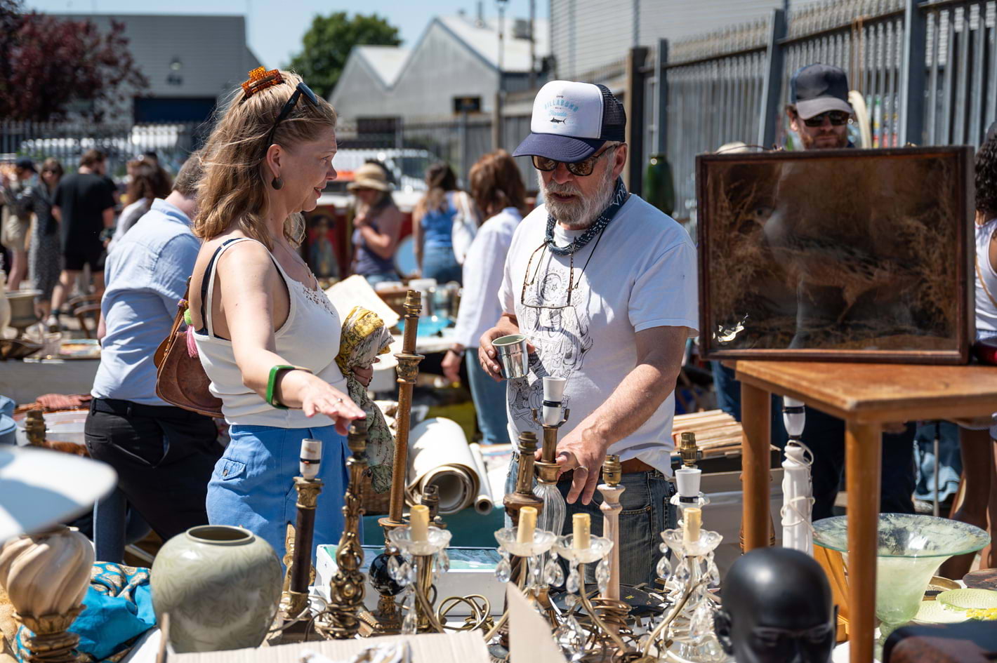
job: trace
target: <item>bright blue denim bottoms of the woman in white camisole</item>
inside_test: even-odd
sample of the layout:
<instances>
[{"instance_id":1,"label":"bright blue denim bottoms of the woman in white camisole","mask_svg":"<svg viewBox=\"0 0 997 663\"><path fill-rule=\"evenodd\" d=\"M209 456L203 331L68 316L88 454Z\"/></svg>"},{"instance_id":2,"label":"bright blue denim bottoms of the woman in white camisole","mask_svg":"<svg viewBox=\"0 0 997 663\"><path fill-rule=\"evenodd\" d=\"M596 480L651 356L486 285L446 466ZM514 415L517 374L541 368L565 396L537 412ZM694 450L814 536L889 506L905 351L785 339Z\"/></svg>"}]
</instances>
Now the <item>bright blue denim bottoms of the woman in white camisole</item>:
<instances>
[{"instance_id":1,"label":"bright blue denim bottoms of the woman in white camisole","mask_svg":"<svg viewBox=\"0 0 997 663\"><path fill-rule=\"evenodd\" d=\"M239 426L229 429L231 442L214 466L207 485L207 519L211 524L245 527L273 546L283 563L287 523L297 518L297 491L302 438L322 441L318 479L325 486L315 511L315 545L339 543L343 533L343 494L349 483L346 438L333 426L284 429Z\"/></svg>"}]
</instances>

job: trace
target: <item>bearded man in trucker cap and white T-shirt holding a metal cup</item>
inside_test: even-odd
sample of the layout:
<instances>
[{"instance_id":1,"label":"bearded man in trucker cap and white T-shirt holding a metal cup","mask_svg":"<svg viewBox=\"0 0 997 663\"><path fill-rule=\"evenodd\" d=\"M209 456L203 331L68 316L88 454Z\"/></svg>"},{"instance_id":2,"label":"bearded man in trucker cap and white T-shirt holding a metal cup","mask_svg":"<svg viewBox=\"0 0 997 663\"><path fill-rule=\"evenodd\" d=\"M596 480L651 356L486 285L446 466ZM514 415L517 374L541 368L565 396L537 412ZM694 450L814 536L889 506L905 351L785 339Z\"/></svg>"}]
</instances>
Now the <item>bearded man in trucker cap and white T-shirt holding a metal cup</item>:
<instances>
[{"instance_id":1,"label":"bearded man in trucker cap and white T-shirt holding a metal cup","mask_svg":"<svg viewBox=\"0 0 997 663\"><path fill-rule=\"evenodd\" d=\"M544 376L566 378L558 488L571 514L592 515L607 454L623 466L620 573L652 582L658 533L674 526L668 498L675 381L686 340L697 335L696 249L674 219L620 179L626 116L601 85L553 81L533 102L530 135L514 156L532 157L546 204L522 220L505 260L502 316L481 338L479 359L501 379L492 341L522 333L527 377L509 380L509 438L540 429ZM518 457L513 455L513 479Z\"/></svg>"}]
</instances>

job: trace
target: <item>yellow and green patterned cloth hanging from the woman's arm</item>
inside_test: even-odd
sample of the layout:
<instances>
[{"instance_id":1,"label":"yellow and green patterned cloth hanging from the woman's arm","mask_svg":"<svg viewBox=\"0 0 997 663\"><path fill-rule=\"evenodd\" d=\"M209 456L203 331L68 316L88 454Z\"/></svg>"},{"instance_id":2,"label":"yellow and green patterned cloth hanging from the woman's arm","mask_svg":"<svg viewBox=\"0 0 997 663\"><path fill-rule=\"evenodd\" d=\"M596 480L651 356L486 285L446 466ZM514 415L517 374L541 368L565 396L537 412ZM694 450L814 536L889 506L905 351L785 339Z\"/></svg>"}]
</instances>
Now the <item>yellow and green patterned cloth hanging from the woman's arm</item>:
<instances>
[{"instance_id":1,"label":"yellow and green patterned cloth hanging from the woman's arm","mask_svg":"<svg viewBox=\"0 0 997 663\"><path fill-rule=\"evenodd\" d=\"M353 375L353 369L370 366L378 355L388 352L390 346L391 333L385 328L384 321L373 311L354 306L343 322L336 364L346 376L350 398L367 413L367 458L370 462L371 488L375 493L391 489L395 438L381 409L367 395L367 388Z\"/></svg>"}]
</instances>

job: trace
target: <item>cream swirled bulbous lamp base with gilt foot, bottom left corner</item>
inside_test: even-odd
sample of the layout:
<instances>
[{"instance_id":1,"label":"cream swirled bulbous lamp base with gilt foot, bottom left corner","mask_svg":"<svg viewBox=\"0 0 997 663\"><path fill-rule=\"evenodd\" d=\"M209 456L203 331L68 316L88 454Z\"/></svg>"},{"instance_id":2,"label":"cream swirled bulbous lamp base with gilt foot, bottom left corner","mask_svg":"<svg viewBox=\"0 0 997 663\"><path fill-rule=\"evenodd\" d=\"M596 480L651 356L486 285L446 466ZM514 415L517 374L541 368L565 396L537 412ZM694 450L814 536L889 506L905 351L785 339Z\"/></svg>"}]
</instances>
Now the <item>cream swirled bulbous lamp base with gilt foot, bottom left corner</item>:
<instances>
[{"instance_id":1,"label":"cream swirled bulbous lamp base with gilt foot, bottom left corner","mask_svg":"<svg viewBox=\"0 0 997 663\"><path fill-rule=\"evenodd\" d=\"M80 636L69 630L84 610L94 548L75 529L56 525L23 534L0 547L0 586L14 618L34 635L29 663L73 663Z\"/></svg>"}]
</instances>

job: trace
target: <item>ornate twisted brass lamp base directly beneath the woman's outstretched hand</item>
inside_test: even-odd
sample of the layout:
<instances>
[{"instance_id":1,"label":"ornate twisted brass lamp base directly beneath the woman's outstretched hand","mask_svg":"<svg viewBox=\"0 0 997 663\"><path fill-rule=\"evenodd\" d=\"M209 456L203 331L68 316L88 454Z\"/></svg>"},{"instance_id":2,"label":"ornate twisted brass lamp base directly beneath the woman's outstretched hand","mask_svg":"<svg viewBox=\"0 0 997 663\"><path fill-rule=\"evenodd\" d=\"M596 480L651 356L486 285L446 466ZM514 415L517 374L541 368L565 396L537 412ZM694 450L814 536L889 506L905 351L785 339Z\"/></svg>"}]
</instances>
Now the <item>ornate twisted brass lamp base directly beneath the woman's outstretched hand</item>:
<instances>
[{"instance_id":1,"label":"ornate twisted brass lamp base directly beneath the woman's outstretched hand","mask_svg":"<svg viewBox=\"0 0 997 663\"><path fill-rule=\"evenodd\" d=\"M343 497L346 522L336 548L336 573L329 586L329 607L320 619L320 628L338 640L356 637L360 631L357 614L364 601L364 574L360 571L364 562L360 517L364 513L361 493L363 476L367 472L367 429L363 424L353 423L347 440L350 458L346 461L346 468L350 473L350 483Z\"/></svg>"}]
</instances>

